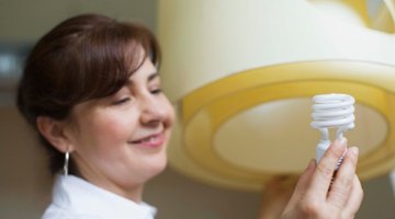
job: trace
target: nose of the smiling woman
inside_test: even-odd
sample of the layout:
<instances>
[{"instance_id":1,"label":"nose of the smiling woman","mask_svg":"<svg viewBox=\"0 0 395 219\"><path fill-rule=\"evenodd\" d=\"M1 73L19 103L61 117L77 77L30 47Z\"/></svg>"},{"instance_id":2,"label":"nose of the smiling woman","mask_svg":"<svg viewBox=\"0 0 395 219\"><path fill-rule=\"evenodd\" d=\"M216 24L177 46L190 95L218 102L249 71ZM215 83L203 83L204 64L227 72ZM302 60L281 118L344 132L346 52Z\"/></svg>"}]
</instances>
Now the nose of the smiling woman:
<instances>
[{"instance_id":1,"label":"nose of the smiling woman","mask_svg":"<svg viewBox=\"0 0 395 219\"><path fill-rule=\"evenodd\" d=\"M140 101L140 107L142 124L157 126L169 117L169 103L163 96L148 94Z\"/></svg>"}]
</instances>

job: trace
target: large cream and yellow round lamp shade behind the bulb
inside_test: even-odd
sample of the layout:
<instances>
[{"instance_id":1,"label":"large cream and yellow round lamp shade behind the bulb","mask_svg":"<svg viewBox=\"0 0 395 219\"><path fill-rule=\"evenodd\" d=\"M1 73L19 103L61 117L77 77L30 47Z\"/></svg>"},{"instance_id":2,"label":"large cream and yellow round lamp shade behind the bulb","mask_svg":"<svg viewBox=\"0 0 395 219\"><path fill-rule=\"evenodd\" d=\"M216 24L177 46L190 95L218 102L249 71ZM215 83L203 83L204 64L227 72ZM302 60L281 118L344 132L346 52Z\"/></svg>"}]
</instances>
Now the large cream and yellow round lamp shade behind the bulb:
<instances>
[{"instance_id":1,"label":"large cream and yellow round lamp shade behind the bulb","mask_svg":"<svg viewBox=\"0 0 395 219\"><path fill-rule=\"evenodd\" d=\"M382 9L385 22L357 0L159 1L160 72L178 114L170 164L250 191L300 174L320 139L309 126L312 96L348 93L357 110L346 137L360 148L359 176L388 173L395 38Z\"/></svg>"}]
</instances>

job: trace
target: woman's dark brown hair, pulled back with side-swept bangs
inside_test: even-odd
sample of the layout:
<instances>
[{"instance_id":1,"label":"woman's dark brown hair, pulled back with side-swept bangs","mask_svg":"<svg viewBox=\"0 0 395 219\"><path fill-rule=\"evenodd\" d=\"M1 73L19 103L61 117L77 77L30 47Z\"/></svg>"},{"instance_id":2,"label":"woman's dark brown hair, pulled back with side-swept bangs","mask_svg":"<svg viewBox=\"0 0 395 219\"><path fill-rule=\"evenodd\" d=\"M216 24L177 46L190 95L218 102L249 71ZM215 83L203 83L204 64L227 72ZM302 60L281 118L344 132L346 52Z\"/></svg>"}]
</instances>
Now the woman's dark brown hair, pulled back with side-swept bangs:
<instances>
[{"instance_id":1,"label":"woman's dark brown hair, pulled back with side-swept bangs","mask_svg":"<svg viewBox=\"0 0 395 219\"><path fill-rule=\"evenodd\" d=\"M38 116L64 120L75 105L119 91L142 65L142 49L159 62L158 43L143 25L99 14L70 18L44 35L27 57L18 108L35 130ZM64 154L37 132L56 173Z\"/></svg>"}]
</instances>

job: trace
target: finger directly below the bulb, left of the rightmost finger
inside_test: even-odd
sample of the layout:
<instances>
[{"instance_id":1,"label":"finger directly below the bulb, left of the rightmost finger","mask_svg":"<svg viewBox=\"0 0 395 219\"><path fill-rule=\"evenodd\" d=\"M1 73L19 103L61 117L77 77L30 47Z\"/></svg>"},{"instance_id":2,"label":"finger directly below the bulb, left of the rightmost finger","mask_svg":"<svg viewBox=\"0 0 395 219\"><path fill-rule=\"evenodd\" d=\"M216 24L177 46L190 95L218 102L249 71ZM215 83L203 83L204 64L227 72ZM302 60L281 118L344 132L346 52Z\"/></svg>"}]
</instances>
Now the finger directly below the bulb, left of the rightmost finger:
<instances>
[{"instance_id":1,"label":"finger directly below the bulb, left of the rightmost finger","mask_svg":"<svg viewBox=\"0 0 395 219\"><path fill-rule=\"evenodd\" d=\"M316 196L319 198L324 198L321 199L321 201L326 200L334 173L337 169L337 163L342 158L346 150L347 150L347 141L336 140L325 152L323 159L317 164L316 171L312 176L311 187L307 191L307 194L311 195L311 197ZM345 172L343 175L347 175L347 173L350 171L349 165L352 166L349 159L347 160L348 160L347 161L348 168L347 171L343 171Z\"/></svg>"}]
</instances>

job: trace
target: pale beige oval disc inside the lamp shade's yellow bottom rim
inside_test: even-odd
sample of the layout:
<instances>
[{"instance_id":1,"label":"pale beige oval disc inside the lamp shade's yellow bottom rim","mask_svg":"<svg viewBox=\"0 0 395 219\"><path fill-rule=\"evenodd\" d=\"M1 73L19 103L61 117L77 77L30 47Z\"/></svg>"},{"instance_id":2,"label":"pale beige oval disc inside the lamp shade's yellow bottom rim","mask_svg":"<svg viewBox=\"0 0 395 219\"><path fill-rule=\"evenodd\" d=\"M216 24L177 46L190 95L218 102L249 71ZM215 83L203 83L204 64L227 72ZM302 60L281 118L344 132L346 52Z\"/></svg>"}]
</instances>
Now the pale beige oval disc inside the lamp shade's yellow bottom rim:
<instances>
[{"instance_id":1,"label":"pale beige oval disc inside the lamp shade's yellow bottom rim","mask_svg":"<svg viewBox=\"0 0 395 219\"><path fill-rule=\"evenodd\" d=\"M297 173L315 158L320 132L313 129L311 99L268 102L240 112L224 123L213 143L216 153L234 165L262 172ZM356 104L356 127L345 132L360 155L380 146L388 127L381 114ZM336 128L330 129L335 134ZM331 139L334 139L331 135Z\"/></svg>"}]
</instances>

